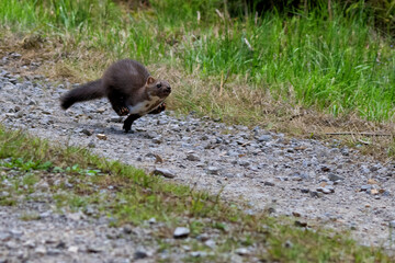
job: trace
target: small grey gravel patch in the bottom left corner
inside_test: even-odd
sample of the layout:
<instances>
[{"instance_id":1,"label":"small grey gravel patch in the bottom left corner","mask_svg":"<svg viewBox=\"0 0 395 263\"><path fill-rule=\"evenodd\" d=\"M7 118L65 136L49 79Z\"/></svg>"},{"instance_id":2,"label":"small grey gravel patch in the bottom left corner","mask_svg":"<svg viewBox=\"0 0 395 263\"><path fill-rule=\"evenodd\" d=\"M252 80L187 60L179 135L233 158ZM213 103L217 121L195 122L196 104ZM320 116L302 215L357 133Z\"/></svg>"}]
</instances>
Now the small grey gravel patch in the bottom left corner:
<instances>
[{"instance_id":1,"label":"small grey gravel patch in the bottom left corner","mask_svg":"<svg viewBox=\"0 0 395 263\"><path fill-rule=\"evenodd\" d=\"M0 262L131 262L151 256L157 248L153 240L149 250L144 247L149 235L142 228L109 228L104 217L52 210L37 202L0 207ZM37 219L21 219L33 213Z\"/></svg>"}]
</instances>

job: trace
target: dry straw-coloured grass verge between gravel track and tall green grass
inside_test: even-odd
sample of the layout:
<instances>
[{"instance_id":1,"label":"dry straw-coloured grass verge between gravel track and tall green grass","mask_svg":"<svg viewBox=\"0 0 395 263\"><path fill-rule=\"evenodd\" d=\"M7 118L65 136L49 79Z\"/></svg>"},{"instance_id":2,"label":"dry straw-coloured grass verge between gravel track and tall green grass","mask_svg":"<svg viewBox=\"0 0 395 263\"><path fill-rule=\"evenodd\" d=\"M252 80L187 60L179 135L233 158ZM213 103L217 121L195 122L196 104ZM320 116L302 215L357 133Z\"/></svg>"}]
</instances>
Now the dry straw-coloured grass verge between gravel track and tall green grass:
<instances>
[{"instance_id":1,"label":"dry straw-coloured grass verge between gravel track and tall green grass","mask_svg":"<svg viewBox=\"0 0 395 263\"><path fill-rule=\"evenodd\" d=\"M22 57L11 60L7 68L22 77L43 75L56 82L71 83L99 78L105 67L115 60L109 54L89 46L79 45L78 49L68 46L56 38L5 35L0 42L0 55L20 53ZM40 67L23 68L31 62L38 62ZM227 124L258 125L297 138L330 142L335 138L340 145L357 147L382 161L392 161L395 155L394 136L366 137L361 134L394 135L392 122L368 122L357 113L335 117L315 108L306 108L295 101L283 102L271 98L269 92L248 87L247 77L228 79L222 75L203 80L198 71L188 75L167 65L149 65L148 68L154 76L167 79L172 84L174 91L168 105L180 113L194 111L200 116L206 115ZM293 98L291 84L284 90L289 92L287 98ZM327 135L332 133L352 135Z\"/></svg>"}]
</instances>

